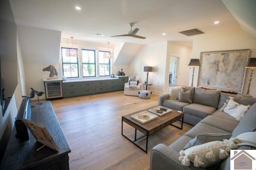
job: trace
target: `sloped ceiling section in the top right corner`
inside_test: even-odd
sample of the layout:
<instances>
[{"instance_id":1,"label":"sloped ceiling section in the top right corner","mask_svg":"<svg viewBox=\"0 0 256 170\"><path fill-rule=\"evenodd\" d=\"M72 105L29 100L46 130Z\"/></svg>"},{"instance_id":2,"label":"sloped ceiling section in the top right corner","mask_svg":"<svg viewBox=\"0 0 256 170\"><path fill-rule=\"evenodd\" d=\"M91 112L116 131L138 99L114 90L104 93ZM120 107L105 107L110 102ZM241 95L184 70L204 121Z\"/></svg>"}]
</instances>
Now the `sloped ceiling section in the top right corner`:
<instances>
[{"instance_id":1,"label":"sloped ceiling section in the top right corner","mask_svg":"<svg viewBox=\"0 0 256 170\"><path fill-rule=\"evenodd\" d=\"M256 37L256 0L222 0L239 25Z\"/></svg>"}]
</instances>

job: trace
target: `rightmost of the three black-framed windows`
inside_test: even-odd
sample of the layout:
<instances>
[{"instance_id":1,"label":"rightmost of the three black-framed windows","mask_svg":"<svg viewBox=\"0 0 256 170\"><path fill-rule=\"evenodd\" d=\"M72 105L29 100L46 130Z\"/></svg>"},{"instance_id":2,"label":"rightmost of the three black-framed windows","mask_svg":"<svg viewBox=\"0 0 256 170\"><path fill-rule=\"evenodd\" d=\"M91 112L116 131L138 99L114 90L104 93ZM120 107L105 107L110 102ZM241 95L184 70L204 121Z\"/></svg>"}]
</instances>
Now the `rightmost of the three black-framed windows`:
<instances>
[{"instance_id":1,"label":"rightmost of the three black-framed windows","mask_svg":"<svg viewBox=\"0 0 256 170\"><path fill-rule=\"evenodd\" d=\"M110 76L110 59L104 59L108 51L99 51L99 76Z\"/></svg>"}]
</instances>

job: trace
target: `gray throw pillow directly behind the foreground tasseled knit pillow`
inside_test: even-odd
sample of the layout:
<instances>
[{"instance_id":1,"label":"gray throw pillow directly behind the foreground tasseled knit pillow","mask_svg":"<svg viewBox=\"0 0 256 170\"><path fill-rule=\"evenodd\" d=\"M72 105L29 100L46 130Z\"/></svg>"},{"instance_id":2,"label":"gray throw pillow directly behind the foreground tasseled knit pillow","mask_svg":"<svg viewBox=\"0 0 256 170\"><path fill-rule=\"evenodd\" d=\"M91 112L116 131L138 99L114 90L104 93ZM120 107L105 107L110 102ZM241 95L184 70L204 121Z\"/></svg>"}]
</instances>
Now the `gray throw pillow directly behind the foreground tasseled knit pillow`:
<instances>
[{"instance_id":1,"label":"gray throw pillow directly behind the foreground tasseled knit pillow","mask_svg":"<svg viewBox=\"0 0 256 170\"><path fill-rule=\"evenodd\" d=\"M201 145L204 143L212 142L212 141L223 141L223 139L230 139L232 134L225 133L202 133L198 134L194 139L188 141L187 145L183 148L188 149L190 147L194 147L196 145Z\"/></svg>"}]
</instances>

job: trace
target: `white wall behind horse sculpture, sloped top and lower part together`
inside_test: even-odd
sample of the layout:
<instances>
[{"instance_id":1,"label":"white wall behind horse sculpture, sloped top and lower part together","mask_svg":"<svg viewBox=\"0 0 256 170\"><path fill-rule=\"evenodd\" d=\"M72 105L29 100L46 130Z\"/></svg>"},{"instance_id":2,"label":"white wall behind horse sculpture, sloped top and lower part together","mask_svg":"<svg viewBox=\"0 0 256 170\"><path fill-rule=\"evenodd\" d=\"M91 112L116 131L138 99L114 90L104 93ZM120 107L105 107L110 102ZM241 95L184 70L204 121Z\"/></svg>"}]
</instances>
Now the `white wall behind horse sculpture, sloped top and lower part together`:
<instances>
[{"instance_id":1,"label":"white wall behind horse sculpture, sloped top and lower part together","mask_svg":"<svg viewBox=\"0 0 256 170\"><path fill-rule=\"evenodd\" d=\"M30 87L44 91L43 78L49 77L50 72L42 69L52 64L60 71L58 63L61 32L17 25L17 33L26 74L25 95L30 94ZM36 97L32 100L36 100Z\"/></svg>"}]
</instances>

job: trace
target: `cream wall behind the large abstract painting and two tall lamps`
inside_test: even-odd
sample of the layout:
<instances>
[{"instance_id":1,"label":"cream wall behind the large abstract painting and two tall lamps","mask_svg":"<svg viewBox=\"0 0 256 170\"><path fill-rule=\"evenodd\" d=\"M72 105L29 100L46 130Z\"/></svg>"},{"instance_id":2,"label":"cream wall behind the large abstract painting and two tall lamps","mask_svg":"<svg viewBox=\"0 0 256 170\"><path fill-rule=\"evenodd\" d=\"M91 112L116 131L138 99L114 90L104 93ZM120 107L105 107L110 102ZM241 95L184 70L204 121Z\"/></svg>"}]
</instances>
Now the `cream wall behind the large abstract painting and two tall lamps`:
<instances>
[{"instance_id":1,"label":"cream wall behind the large abstract painting and two tall lamps","mask_svg":"<svg viewBox=\"0 0 256 170\"><path fill-rule=\"evenodd\" d=\"M192 59L200 59L200 53L206 51L225 51L251 49L250 57L256 57L256 38L242 29L222 33L205 34L194 37ZM250 69L247 69L244 92L247 90ZM190 74L190 82L192 74ZM198 68L195 70L194 84L198 82ZM256 72L252 76L250 94L256 97Z\"/></svg>"}]
</instances>

